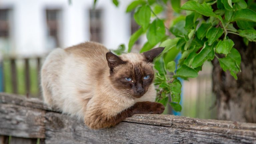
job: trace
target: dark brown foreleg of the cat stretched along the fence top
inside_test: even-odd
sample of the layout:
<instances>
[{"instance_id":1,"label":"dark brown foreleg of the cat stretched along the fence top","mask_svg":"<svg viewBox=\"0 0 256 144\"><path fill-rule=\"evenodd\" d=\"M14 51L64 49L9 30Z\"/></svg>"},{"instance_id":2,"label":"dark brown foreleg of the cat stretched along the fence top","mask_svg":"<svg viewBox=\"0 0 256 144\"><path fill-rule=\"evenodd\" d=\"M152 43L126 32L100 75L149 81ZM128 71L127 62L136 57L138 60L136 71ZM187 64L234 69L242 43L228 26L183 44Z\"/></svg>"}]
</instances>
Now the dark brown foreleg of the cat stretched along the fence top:
<instances>
[{"instance_id":1,"label":"dark brown foreleg of the cat stretched along the fence top","mask_svg":"<svg viewBox=\"0 0 256 144\"><path fill-rule=\"evenodd\" d=\"M134 114L161 114L164 109L165 107L160 103L144 101L137 102L114 116L108 116L104 109L94 109L92 112L87 112L84 120L88 127L99 129L114 126Z\"/></svg>"}]
</instances>

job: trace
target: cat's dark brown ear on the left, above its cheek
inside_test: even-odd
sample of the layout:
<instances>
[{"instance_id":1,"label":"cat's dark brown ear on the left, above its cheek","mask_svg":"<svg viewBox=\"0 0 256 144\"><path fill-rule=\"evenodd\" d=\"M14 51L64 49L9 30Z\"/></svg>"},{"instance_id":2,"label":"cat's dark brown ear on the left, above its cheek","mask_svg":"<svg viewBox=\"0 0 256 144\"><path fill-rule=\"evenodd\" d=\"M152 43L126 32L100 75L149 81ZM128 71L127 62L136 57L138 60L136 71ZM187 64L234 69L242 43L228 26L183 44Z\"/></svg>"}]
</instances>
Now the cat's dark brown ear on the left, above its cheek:
<instances>
[{"instance_id":1,"label":"cat's dark brown ear on the left, above its cheek","mask_svg":"<svg viewBox=\"0 0 256 144\"><path fill-rule=\"evenodd\" d=\"M106 53L106 59L108 61L108 67L110 68L110 70L120 64L125 64L125 62L119 56L113 54L112 52Z\"/></svg>"}]
</instances>

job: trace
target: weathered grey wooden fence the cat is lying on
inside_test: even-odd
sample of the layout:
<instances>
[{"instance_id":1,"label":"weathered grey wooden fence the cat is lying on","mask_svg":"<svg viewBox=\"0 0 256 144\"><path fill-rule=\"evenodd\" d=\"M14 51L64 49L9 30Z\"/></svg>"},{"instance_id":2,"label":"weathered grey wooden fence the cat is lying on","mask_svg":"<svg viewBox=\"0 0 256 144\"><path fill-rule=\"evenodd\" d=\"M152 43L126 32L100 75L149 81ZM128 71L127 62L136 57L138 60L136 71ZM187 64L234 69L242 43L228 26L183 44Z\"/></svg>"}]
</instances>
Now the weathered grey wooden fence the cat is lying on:
<instances>
[{"instance_id":1,"label":"weathered grey wooden fence the cat is lying on","mask_svg":"<svg viewBox=\"0 0 256 144\"><path fill-rule=\"evenodd\" d=\"M255 144L256 124L136 114L115 127L91 130L83 121L50 109L39 99L0 93L0 135L3 144L9 140L11 144Z\"/></svg>"}]
</instances>

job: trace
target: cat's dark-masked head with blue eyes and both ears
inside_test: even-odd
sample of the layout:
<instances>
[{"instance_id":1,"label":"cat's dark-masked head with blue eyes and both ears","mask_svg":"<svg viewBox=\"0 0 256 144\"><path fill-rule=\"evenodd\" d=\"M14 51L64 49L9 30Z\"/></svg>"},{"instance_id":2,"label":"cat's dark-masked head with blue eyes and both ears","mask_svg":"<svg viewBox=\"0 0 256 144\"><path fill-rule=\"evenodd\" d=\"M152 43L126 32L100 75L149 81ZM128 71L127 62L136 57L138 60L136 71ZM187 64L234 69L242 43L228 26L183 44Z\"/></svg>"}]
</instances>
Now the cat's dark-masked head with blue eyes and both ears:
<instances>
[{"instance_id":1,"label":"cat's dark-masked head with blue eyes and both ears","mask_svg":"<svg viewBox=\"0 0 256 144\"><path fill-rule=\"evenodd\" d=\"M154 80L153 61L164 50L154 48L147 52L117 56L106 53L111 85L122 95L132 98L143 96Z\"/></svg>"}]
</instances>

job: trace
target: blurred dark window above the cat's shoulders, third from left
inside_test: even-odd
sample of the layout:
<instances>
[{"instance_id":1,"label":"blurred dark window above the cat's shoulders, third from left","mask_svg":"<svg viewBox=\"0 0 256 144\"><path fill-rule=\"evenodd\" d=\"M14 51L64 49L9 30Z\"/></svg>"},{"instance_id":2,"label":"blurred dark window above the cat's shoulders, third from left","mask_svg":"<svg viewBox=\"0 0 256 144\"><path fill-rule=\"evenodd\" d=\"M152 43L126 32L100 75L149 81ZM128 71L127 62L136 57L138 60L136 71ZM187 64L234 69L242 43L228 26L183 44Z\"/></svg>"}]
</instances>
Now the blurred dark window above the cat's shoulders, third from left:
<instances>
[{"instance_id":1,"label":"blurred dark window above the cat's shoulders, third from left","mask_svg":"<svg viewBox=\"0 0 256 144\"><path fill-rule=\"evenodd\" d=\"M90 10L90 40L102 42L102 10Z\"/></svg>"}]
</instances>

